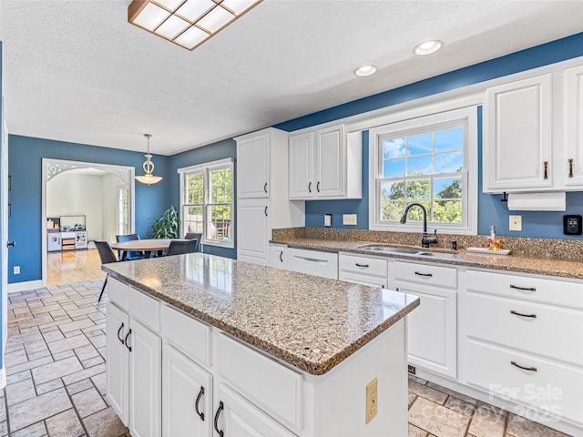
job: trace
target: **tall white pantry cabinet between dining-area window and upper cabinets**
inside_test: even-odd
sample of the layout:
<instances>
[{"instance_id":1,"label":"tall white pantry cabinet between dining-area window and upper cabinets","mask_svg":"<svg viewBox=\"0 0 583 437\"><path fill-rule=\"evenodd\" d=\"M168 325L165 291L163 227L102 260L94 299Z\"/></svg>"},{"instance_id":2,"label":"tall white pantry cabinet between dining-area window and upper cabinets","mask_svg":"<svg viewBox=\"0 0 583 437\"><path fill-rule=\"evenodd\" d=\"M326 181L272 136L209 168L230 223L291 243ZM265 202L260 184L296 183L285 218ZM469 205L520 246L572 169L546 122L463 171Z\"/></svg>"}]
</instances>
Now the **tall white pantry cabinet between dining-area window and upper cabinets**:
<instances>
[{"instance_id":1,"label":"tall white pantry cabinet between dining-area window and upper cabinets","mask_svg":"<svg viewBox=\"0 0 583 437\"><path fill-rule=\"evenodd\" d=\"M271 229L304 226L288 198L288 134L268 128L237 141L237 259L268 265Z\"/></svg>"}]
</instances>

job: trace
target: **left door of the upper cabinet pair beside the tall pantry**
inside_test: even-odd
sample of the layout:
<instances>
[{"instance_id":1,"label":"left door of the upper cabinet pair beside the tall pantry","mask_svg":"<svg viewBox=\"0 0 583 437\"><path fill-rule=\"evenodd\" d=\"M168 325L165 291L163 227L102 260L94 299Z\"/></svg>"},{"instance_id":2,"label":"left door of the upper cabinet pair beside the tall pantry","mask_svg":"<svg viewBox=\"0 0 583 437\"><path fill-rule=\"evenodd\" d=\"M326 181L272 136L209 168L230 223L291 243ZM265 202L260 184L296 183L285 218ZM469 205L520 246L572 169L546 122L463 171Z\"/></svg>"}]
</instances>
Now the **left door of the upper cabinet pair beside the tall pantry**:
<instances>
[{"instance_id":1,"label":"left door of the upper cabinet pair beside the tall pantry","mask_svg":"<svg viewBox=\"0 0 583 437\"><path fill-rule=\"evenodd\" d=\"M313 134L290 137L290 198L312 198L316 191L313 182Z\"/></svg>"}]
</instances>

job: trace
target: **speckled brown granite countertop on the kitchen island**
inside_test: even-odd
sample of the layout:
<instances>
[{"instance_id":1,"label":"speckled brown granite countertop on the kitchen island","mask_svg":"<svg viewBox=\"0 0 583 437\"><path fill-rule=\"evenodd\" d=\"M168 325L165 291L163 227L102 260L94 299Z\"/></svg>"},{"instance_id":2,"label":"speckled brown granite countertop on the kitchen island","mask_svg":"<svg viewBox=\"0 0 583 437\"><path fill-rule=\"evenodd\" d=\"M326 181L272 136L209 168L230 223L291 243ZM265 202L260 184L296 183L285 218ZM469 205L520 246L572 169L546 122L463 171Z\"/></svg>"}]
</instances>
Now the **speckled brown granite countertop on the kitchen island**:
<instances>
[{"instance_id":1,"label":"speckled brown granite countertop on the kitchen island","mask_svg":"<svg viewBox=\"0 0 583 437\"><path fill-rule=\"evenodd\" d=\"M102 269L302 371L322 375L419 305L419 298L193 253Z\"/></svg>"}]
</instances>

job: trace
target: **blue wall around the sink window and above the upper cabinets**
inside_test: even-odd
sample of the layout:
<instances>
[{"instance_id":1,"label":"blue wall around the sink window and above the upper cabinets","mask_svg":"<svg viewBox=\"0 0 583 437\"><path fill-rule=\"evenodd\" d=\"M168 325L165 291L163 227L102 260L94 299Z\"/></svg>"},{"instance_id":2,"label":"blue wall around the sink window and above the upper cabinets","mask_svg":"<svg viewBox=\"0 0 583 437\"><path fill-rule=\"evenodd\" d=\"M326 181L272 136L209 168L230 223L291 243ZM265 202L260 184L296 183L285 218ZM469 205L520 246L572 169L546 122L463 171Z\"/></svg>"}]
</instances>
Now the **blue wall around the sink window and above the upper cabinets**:
<instances>
[{"instance_id":1,"label":"blue wall around the sink window and above the upper cabinets","mask_svg":"<svg viewBox=\"0 0 583 437\"><path fill-rule=\"evenodd\" d=\"M583 56L583 33L568 36L541 46L498 57L474 66L467 66L444 75L431 77L411 85L395 88L371 97L354 100L338 107L331 107L314 114L286 121L274 127L292 131L312 127L343 117L391 107L417 98L428 97L462 86L474 85L496 77L511 75L538 66L547 66L573 57ZM581 239L563 234L563 215L583 213L583 192L567 194L566 212L512 211L522 215L522 231L508 230L506 203L500 202L501 196L482 193L482 118L478 108L478 233L488 234L490 225L495 225L498 233L512 237L533 237L553 239ZM363 148L368 141L363 140ZM306 226L322 227L323 214L332 213L332 228L368 228L368 151L363 150L363 199L362 200L311 200L306 202ZM356 227L343 227L342 214L358 214Z\"/></svg>"}]
</instances>

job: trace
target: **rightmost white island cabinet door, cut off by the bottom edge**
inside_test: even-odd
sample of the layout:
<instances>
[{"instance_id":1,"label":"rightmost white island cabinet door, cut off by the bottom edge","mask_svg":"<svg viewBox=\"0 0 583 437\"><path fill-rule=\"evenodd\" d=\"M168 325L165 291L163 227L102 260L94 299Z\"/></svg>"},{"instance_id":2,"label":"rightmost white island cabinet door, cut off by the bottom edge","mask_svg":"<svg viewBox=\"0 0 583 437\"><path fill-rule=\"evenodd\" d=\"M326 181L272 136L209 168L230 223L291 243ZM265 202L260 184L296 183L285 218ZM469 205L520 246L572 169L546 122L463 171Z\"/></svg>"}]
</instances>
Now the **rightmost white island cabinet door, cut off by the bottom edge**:
<instances>
[{"instance_id":1,"label":"rightmost white island cabinet door, cut off by the bottom edge","mask_svg":"<svg viewBox=\"0 0 583 437\"><path fill-rule=\"evenodd\" d=\"M294 437L270 416L261 412L228 386L219 386L217 427L229 437Z\"/></svg>"}]
</instances>

